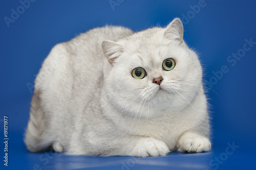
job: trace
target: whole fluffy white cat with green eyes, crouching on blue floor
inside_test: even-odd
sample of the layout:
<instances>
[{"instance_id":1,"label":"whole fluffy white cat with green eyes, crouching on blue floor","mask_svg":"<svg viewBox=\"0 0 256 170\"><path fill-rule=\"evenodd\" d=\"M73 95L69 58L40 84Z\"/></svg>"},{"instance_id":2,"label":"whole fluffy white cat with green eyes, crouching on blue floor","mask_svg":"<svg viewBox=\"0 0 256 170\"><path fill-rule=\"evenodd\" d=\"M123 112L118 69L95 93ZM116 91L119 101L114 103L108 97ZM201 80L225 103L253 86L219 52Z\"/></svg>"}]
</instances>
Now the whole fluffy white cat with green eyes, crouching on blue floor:
<instances>
[{"instance_id":1,"label":"whole fluffy white cat with green eyes, crouching on blue floor","mask_svg":"<svg viewBox=\"0 0 256 170\"><path fill-rule=\"evenodd\" d=\"M175 18L133 33L103 27L57 44L35 81L31 152L164 156L210 150L197 54Z\"/></svg>"}]
</instances>

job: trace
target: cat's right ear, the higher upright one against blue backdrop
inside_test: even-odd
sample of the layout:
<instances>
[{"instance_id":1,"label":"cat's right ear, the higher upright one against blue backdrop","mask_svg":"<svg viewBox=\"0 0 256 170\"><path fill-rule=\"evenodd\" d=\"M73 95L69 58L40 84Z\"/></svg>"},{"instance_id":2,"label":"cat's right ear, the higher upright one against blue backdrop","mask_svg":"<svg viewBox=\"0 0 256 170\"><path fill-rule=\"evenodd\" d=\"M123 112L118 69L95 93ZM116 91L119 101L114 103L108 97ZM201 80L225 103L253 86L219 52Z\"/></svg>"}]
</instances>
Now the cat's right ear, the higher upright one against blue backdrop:
<instances>
[{"instance_id":1,"label":"cat's right ear, the higher upright one against blue backdrop","mask_svg":"<svg viewBox=\"0 0 256 170\"><path fill-rule=\"evenodd\" d=\"M183 25L180 18L174 18L166 27L164 37L167 39L177 40L180 43L183 41Z\"/></svg>"}]
</instances>

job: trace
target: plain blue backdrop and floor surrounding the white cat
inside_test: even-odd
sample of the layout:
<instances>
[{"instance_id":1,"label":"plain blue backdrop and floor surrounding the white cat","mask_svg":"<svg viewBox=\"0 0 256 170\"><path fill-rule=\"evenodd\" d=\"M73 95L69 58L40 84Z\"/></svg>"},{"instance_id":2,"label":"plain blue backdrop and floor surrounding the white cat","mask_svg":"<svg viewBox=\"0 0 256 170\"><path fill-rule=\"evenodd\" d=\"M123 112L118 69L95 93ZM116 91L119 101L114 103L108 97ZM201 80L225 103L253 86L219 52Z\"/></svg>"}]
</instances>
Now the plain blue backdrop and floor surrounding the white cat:
<instances>
[{"instance_id":1,"label":"plain blue backdrop and floor surrounding the white cat","mask_svg":"<svg viewBox=\"0 0 256 170\"><path fill-rule=\"evenodd\" d=\"M256 42L256 2L205 0L204 7L196 12L193 7L199 5L199 0L114 2L119 3L113 10L109 0L37 0L24 8L24 12L19 1L1 2L1 167L4 166L3 119L6 115L9 128L9 166L4 166L6 169L256 169L253 163L256 159L256 44L252 44L236 63L227 61L232 53L243 52L245 39ZM17 11L17 8L21 14L8 27L4 17L11 18L12 9ZM165 27L174 17L183 20L184 39L198 51L204 67L212 118L210 152L175 152L165 157L134 158L32 154L26 150L23 137L33 91L30 85L56 43L106 24L134 31L157 25ZM225 73L221 74L224 65ZM228 143L239 148L228 155Z\"/></svg>"}]
</instances>

